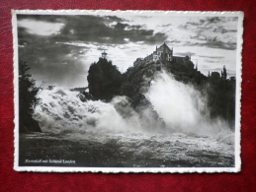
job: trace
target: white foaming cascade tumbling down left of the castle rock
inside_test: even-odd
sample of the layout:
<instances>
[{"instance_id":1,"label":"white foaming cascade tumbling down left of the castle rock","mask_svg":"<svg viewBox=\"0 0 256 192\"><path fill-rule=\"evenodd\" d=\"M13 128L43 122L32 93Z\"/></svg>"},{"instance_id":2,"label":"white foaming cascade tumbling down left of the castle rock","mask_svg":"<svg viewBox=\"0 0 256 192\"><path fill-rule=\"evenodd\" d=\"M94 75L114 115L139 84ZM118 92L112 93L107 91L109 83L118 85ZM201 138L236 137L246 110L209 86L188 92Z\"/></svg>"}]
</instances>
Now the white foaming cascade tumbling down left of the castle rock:
<instances>
[{"instance_id":1,"label":"white foaming cascade tumbling down left of the castle rock","mask_svg":"<svg viewBox=\"0 0 256 192\"><path fill-rule=\"evenodd\" d=\"M128 132L140 130L138 117L131 107L128 118L122 116L115 103L128 102L125 96L119 96L113 103L100 100L82 102L77 92L61 88L43 90L39 97L41 103L36 107L34 117L40 122L43 132Z\"/></svg>"}]
</instances>

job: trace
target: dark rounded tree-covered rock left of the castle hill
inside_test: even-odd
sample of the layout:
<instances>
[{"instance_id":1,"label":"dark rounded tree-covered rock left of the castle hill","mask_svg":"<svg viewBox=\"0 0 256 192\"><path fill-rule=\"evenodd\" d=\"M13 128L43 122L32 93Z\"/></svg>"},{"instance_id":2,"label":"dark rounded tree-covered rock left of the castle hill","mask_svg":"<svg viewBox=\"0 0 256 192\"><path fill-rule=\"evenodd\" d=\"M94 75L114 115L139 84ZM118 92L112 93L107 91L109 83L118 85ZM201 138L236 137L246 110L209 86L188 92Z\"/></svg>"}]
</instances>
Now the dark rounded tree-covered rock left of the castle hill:
<instances>
[{"instance_id":1,"label":"dark rounded tree-covered rock left of the castle hill","mask_svg":"<svg viewBox=\"0 0 256 192\"><path fill-rule=\"evenodd\" d=\"M122 74L118 68L105 58L90 66L87 76L89 93L95 99L109 101L120 95Z\"/></svg>"}]
</instances>

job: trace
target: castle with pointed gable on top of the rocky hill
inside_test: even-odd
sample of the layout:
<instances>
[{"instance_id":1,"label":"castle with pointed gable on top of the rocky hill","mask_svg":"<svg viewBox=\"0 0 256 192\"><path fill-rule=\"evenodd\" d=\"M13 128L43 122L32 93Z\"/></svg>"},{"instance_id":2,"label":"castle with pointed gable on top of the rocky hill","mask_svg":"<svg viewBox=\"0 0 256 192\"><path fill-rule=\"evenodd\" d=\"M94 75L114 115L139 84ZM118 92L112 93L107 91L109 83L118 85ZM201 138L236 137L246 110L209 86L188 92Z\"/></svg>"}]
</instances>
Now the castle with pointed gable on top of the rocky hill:
<instances>
[{"instance_id":1,"label":"castle with pointed gable on top of the rocky hill","mask_svg":"<svg viewBox=\"0 0 256 192\"><path fill-rule=\"evenodd\" d=\"M195 65L191 61L191 57L189 55L185 57L174 56L173 48L170 48L165 42L159 47L156 46L155 51L153 51L153 53L151 53L150 55L146 56L143 60L154 62L169 61L171 64L179 64L190 69L195 69Z\"/></svg>"}]
</instances>

